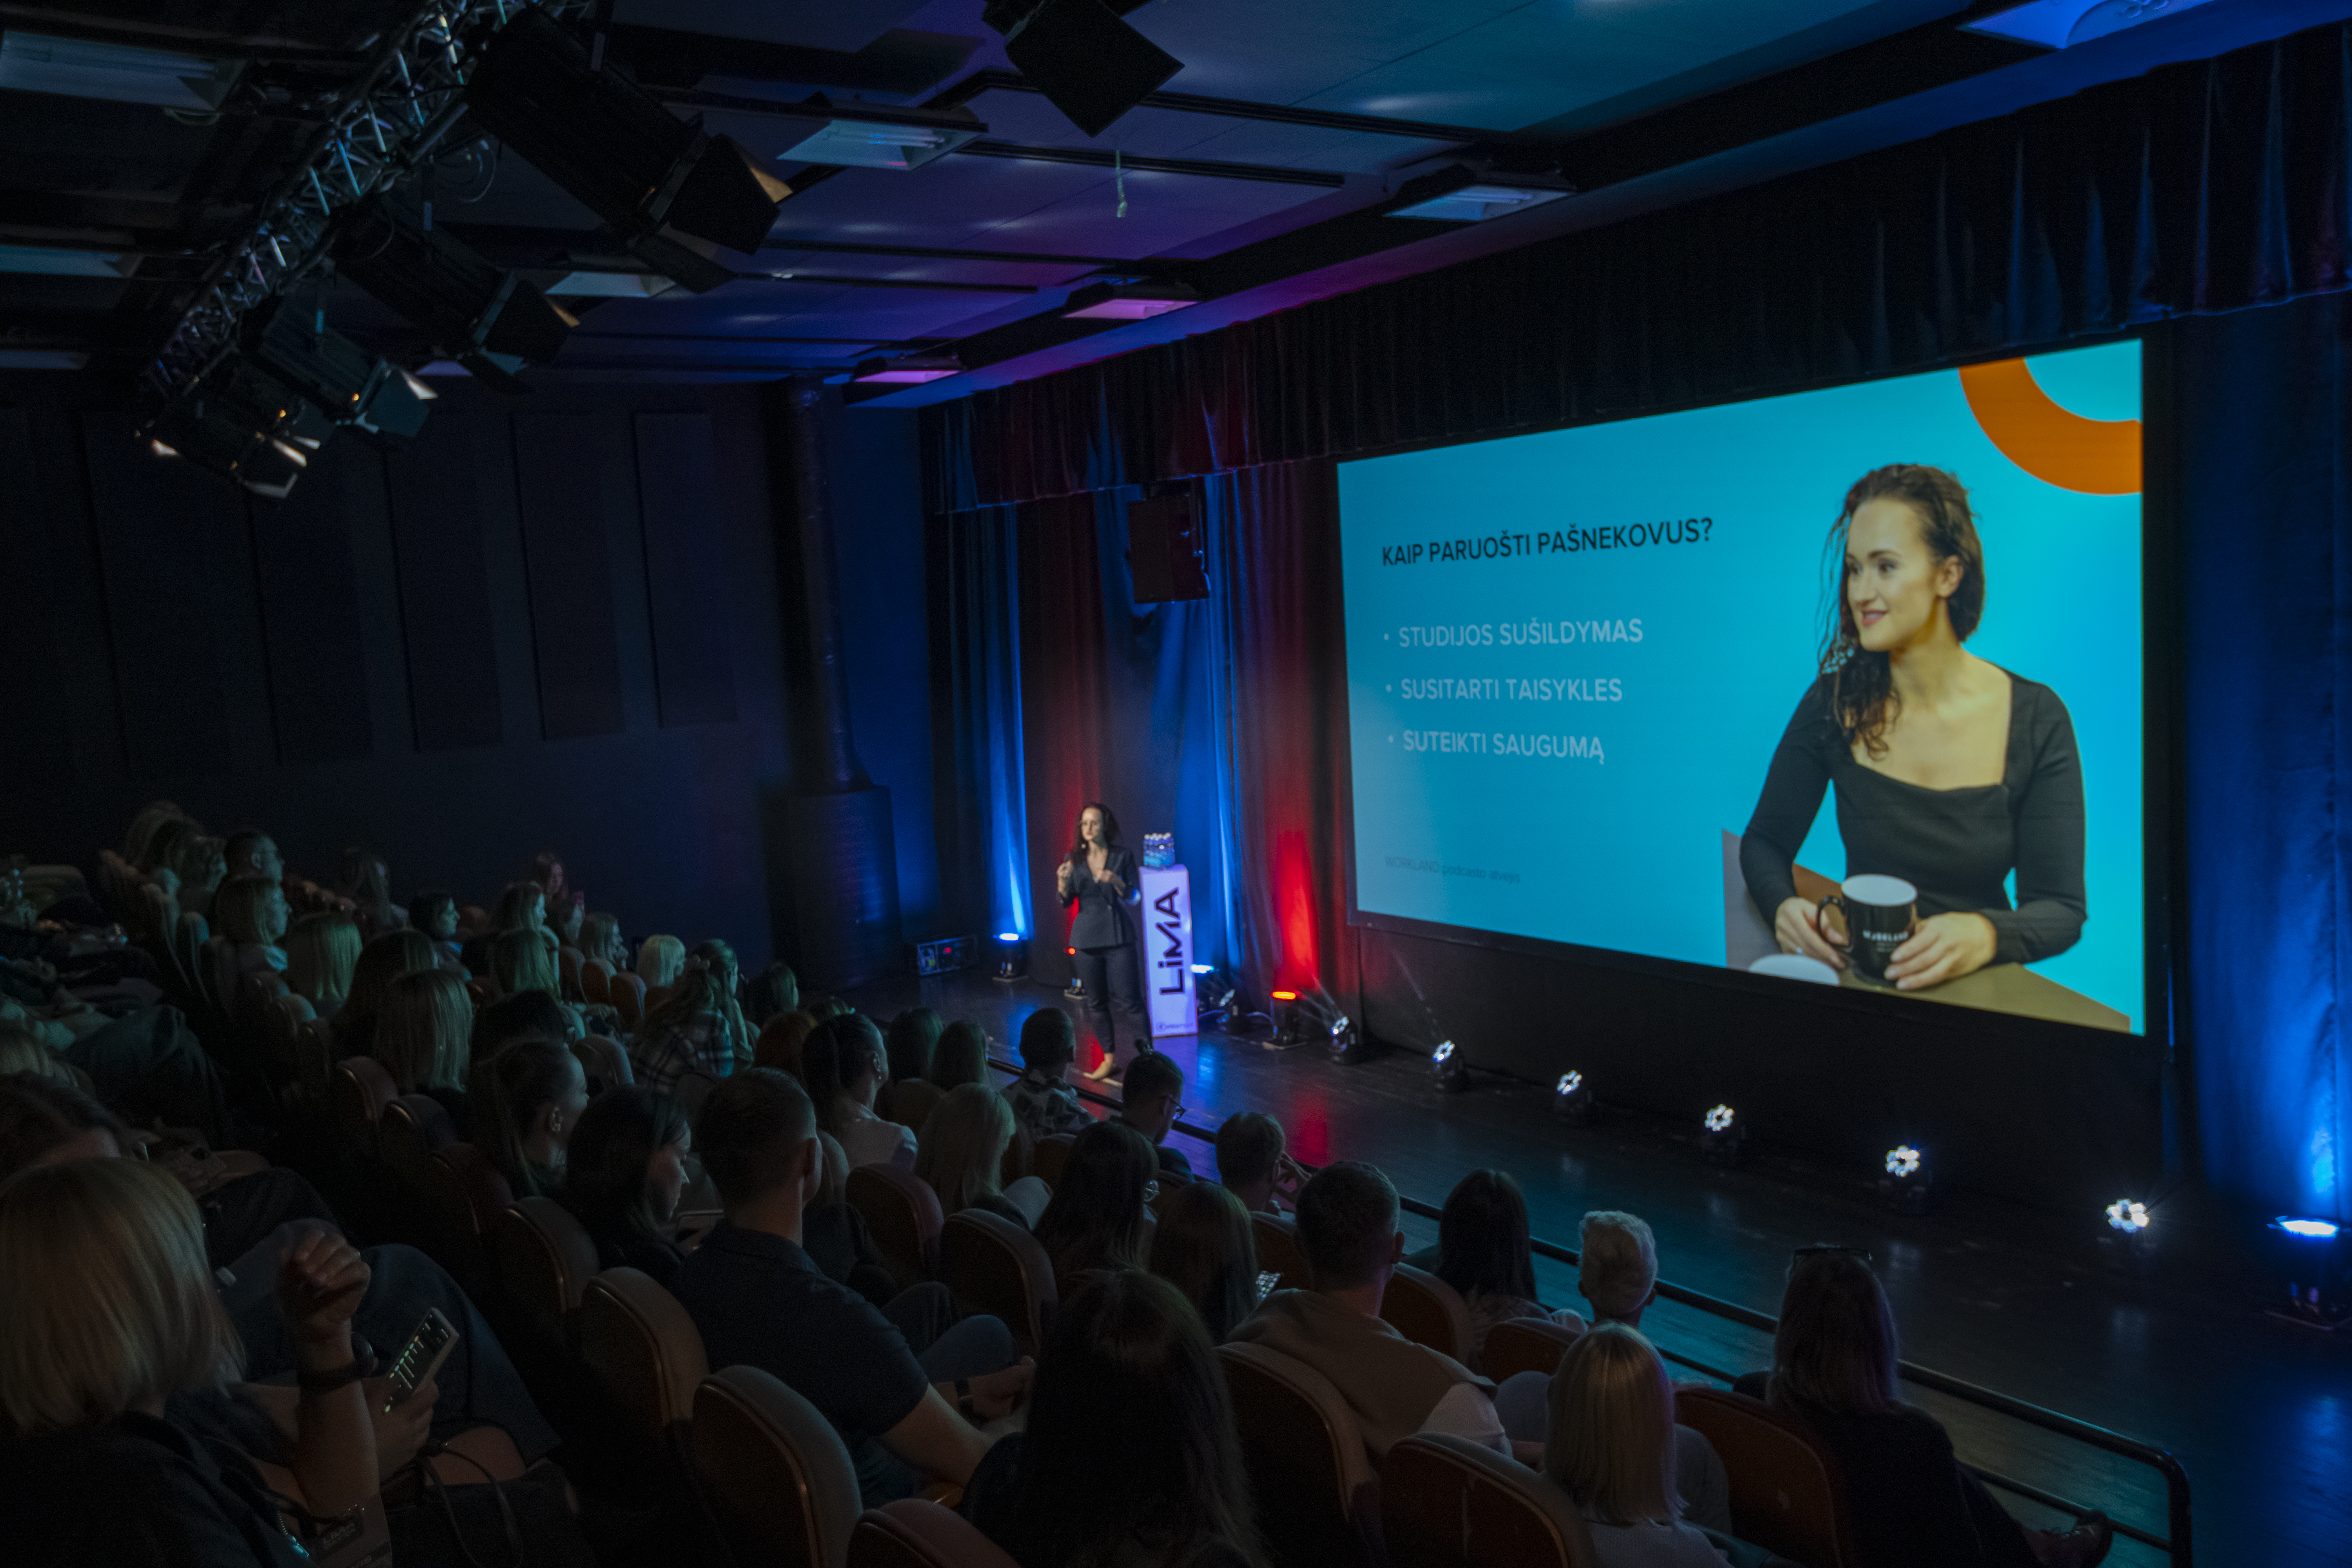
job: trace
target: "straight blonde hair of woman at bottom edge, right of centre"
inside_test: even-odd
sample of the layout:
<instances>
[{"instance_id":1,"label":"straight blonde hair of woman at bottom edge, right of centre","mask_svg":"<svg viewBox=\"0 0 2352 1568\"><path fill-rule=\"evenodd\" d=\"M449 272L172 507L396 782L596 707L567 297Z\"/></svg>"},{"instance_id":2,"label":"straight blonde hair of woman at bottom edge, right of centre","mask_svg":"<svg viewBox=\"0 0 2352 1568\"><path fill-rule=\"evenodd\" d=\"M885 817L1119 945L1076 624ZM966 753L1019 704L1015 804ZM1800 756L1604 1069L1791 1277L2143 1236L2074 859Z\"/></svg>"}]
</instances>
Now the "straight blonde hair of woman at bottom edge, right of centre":
<instances>
[{"instance_id":1,"label":"straight blonde hair of woman at bottom edge, right of centre","mask_svg":"<svg viewBox=\"0 0 2352 1568\"><path fill-rule=\"evenodd\" d=\"M1559 1359L1543 1474L1599 1523L1672 1523L1682 1514L1675 1385L1642 1331L1599 1324Z\"/></svg>"}]
</instances>

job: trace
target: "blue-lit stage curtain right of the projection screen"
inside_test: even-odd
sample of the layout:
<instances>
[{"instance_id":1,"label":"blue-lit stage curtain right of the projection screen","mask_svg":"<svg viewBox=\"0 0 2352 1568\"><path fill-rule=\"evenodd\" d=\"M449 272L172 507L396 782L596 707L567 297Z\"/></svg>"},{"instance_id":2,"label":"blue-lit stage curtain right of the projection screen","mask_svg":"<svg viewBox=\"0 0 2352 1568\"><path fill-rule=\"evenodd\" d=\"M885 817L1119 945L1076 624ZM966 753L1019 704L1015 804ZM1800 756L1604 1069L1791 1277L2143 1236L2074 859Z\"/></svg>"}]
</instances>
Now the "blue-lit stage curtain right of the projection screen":
<instances>
[{"instance_id":1,"label":"blue-lit stage curtain right of the projection screen","mask_svg":"<svg viewBox=\"0 0 2352 1568\"><path fill-rule=\"evenodd\" d=\"M2185 1053L2213 1190L2352 1218L2352 310L2183 322Z\"/></svg>"}]
</instances>

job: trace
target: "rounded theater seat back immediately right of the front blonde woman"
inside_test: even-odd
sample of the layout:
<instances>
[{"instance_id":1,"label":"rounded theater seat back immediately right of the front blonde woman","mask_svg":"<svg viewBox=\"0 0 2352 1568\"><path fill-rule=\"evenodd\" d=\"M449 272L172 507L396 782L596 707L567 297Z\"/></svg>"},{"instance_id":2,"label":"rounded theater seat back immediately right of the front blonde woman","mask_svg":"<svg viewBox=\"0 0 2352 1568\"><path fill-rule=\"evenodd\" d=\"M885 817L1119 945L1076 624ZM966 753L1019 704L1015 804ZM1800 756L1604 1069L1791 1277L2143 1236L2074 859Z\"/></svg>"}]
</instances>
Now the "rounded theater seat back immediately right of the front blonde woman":
<instances>
[{"instance_id":1,"label":"rounded theater seat back immediately right of the front blonde woman","mask_svg":"<svg viewBox=\"0 0 2352 1568\"><path fill-rule=\"evenodd\" d=\"M1729 1389L1675 1389L1675 1420L1715 1443L1733 1535L1811 1568L1858 1568L1837 1458L1804 1422Z\"/></svg>"}]
</instances>

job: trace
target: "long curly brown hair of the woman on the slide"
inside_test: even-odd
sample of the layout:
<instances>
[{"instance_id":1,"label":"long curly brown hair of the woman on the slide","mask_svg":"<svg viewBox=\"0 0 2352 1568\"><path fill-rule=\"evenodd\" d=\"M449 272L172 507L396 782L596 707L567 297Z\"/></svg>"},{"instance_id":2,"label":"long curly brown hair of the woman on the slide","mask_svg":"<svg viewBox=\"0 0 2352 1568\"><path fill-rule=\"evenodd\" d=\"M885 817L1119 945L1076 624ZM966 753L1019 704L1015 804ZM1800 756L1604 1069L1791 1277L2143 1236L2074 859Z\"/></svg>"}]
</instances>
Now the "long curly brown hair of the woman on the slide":
<instances>
[{"instance_id":1,"label":"long curly brown hair of the woman on the slide","mask_svg":"<svg viewBox=\"0 0 2352 1568\"><path fill-rule=\"evenodd\" d=\"M1957 475L1926 463L1889 463L1872 468L1853 489L1830 524L1823 550L1825 590L1830 597L1830 625L1820 637L1820 672L1830 679L1830 712L1837 715L1837 731L1846 745L1863 743L1872 757L1886 755L1886 726L1896 722L1903 698L1896 696L1893 670L1886 654L1863 646L1853 625L1853 604L1846 599L1846 534L1853 515L1870 501L1900 501L1919 520L1919 543L1938 564L1957 559L1962 564L1959 588L1945 599L1952 618L1952 635L1966 642L1976 623L1985 618L1985 545L1976 536L1976 512L1969 508L1969 489Z\"/></svg>"}]
</instances>

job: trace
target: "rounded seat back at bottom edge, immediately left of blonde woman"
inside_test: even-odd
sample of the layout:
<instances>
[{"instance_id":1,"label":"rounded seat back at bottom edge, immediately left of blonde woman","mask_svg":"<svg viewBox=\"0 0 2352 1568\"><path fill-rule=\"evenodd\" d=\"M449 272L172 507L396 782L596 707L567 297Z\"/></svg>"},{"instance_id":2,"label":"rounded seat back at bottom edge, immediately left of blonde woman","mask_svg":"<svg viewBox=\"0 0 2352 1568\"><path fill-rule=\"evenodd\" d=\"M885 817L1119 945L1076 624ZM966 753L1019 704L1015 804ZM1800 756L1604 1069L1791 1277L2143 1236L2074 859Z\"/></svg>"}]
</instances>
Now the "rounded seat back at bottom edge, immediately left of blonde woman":
<instances>
[{"instance_id":1,"label":"rounded seat back at bottom edge, immediately left of blonde woman","mask_svg":"<svg viewBox=\"0 0 2352 1568\"><path fill-rule=\"evenodd\" d=\"M1416 1568L1597 1568L1592 1530L1569 1495L1491 1448L1409 1436L1381 1465L1381 1535Z\"/></svg>"}]
</instances>

